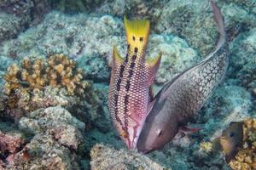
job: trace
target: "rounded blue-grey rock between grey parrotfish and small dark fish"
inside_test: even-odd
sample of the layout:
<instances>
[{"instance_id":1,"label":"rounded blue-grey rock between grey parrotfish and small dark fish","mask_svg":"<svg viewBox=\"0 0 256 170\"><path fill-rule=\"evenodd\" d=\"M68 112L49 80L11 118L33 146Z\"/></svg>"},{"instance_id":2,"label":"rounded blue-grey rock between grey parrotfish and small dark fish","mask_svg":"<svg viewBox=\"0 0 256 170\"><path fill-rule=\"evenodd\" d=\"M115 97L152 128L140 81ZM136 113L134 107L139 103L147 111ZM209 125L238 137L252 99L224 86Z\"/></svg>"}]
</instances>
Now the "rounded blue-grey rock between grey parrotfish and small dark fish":
<instances>
[{"instance_id":1,"label":"rounded blue-grey rock between grey parrotfish and small dark fish","mask_svg":"<svg viewBox=\"0 0 256 170\"><path fill-rule=\"evenodd\" d=\"M252 96L245 88L234 85L217 88L201 111L204 114L201 122L206 122L201 135L211 139L216 137L230 122L239 122L251 116L252 107Z\"/></svg>"}]
</instances>

